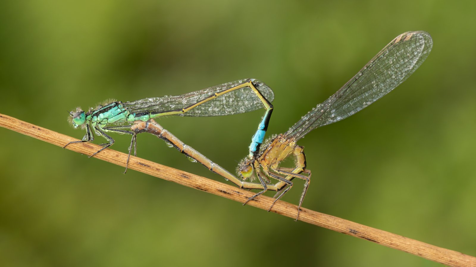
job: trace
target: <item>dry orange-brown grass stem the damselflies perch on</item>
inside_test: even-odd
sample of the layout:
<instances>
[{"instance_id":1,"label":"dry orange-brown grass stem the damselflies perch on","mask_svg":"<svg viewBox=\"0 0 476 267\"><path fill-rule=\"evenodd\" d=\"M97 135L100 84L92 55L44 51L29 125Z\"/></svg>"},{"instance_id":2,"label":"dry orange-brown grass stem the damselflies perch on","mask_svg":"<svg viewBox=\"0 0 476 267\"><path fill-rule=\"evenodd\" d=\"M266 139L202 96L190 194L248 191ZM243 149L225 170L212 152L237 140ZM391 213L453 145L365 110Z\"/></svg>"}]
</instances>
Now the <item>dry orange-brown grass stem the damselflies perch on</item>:
<instances>
[{"instance_id":1,"label":"dry orange-brown grass stem the damselflies perch on","mask_svg":"<svg viewBox=\"0 0 476 267\"><path fill-rule=\"evenodd\" d=\"M60 147L64 146L70 141L77 140L67 135L59 134L3 114L0 114L0 126L16 131L20 134L29 135L42 141L55 144ZM93 143L75 143L67 147L69 150L86 155L91 155L100 148L100 146ZM59 150L58 153L63 152L62 150ZM94 157L125 167L127 154L106 149ZM183 172L134 156L130 157L129 169L147 173L167 181L173 181L181 185L219 195L241 203L245 202L253 195L253 193L250 191L241 190L232 185L224 184L222 182L211 180L188 172ZM268 207L271 205L272 201L273 199L270 197L259 196L255 200L249 201L247 205L254 206L262 210L268 210ZM387 246L389 248L405 251L445 265L465 267L476 266L475 257L457 251L439 248L421 241L371 228L314 210L308 210L305 208L302 208L301 210L302 211L300 213L299 220L310 224L331 229L357 238L362 238L383 246ZM297 206L284 201L278 201L271 211L294 219L296 218Z\"/></svg>"}]
</instances>

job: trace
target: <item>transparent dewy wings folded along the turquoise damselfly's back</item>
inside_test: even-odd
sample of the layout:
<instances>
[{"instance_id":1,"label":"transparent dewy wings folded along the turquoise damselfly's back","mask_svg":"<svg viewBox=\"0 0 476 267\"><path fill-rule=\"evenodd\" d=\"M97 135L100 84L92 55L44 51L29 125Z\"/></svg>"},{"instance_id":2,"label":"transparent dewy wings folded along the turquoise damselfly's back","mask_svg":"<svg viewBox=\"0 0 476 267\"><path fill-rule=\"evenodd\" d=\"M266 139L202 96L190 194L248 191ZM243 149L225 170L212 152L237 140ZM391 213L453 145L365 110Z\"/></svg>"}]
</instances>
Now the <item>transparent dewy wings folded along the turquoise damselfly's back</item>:
<instances>
[{"instance_id":1,"label":"transparent dewy wings folded along the turquoise damselfly's back","mask_svg":"<svg viewBox=\"0 0 476 267\"><path fill-rule=\"evenodd\" d=\"M212 86L184 95L152 97L126 102L124 106L130 112L168 111L188 107L215 93L227 90L251 80L258 91L271 103L274 94L271 88L257 79L242 79ZM250 87L240 88L212 99L179 116L221 116L245 113L264 108L263 103Z\"/></svg>"}]
</instances>

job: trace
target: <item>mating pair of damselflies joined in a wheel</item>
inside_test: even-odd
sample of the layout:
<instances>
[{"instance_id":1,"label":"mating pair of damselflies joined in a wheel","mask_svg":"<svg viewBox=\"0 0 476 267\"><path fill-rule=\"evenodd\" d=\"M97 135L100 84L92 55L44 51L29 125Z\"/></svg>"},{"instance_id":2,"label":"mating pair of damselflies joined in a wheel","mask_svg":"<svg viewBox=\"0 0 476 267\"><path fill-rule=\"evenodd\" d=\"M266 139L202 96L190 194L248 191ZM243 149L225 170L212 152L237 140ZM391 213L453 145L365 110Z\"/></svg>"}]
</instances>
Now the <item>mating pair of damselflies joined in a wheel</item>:
<instances>
[{"instance_id":1,"label":"mating pair of damselflies joined in a wheel","mask_svg":"<svg viewBox=\"0 0 476 267\"><path fill-rule=\"evenodd\" d=\"M304 148L298 146L297 141L313 129L343 120L386 95L420 67L432 46L430 35L424 31L406 32L397 36L334 95L304 115L286 133L279 134L264 145L262 143L273 110L270 103L274 94L268 86L255 79L239 80L185 95L146 98L124 103L115 101L88 112L77 109L76 112L70 113L71 122L75 128L86 128L86 135L82 141L70 143L92 141L92 128L96 134L109 141L96 152L99 153L114 143L114 139L106 132L131 134L130 155L132 147L135 147L136 134L155 134L240 188L261 190L244 204L268 190L278 191L269 210L291 189L292 180L299 178L304 180L305 184L297 207L298 219L311 172L307 170ZM244 113L261 107L266 108L266 112L258 124L258 131L252 137L248 156L239 163L239 178L152 121L155 117L165 115L218 116ZM133 122L135 124L131 127ZM124 130L127 128L129 130ZM292 168L280 166L289 156L296 157L296 165ZM253 178L258 178L259 182L253 182ZM271 183L270 179L277 182Z\"/></svg>"}]
</instances>

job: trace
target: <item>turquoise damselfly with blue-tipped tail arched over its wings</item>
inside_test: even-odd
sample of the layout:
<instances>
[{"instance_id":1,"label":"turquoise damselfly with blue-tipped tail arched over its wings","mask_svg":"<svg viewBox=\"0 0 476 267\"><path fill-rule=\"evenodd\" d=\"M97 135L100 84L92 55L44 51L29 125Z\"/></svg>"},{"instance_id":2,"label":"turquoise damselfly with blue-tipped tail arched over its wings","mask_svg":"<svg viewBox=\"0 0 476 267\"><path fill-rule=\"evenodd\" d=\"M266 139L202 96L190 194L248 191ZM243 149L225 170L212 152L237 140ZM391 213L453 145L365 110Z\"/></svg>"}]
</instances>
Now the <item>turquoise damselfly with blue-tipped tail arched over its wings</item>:
<instances>
[{"instance_id":1,"label":"turquoise damselfly with blue-tipped tail arched over its wings","mask_svg":"<svg viewBox=\"0 0 476 267\"><path fill-rule=\"evenodd\" d=\"M99 105L96 109L90 108L87 112L77 108L76 111L69 113L69 122L74 128L86 129L86 134L81 141L69 142L63 148L72 143L93 141L92 128L94 133L103 136L109 143L102 144L103 148L89 157L96 155L114 143L114 139L106 132L132 135L129 146L130 157L133 146L134 155L136 155L136 134L123 129L130 128L135 121L148 121L167 115L200 117L239 114L264 107L266 108L265 115L258 124L258 130L252 137L249 146L249 154L254 155L263 143L264 134L273 111L271 105L273 100L273 91L266 84L256 79L242 79L184 95L166 95L130 102L108 101L110 103ZM126 162L126 171L129 157Z\"/></svg>"}]
</instances>

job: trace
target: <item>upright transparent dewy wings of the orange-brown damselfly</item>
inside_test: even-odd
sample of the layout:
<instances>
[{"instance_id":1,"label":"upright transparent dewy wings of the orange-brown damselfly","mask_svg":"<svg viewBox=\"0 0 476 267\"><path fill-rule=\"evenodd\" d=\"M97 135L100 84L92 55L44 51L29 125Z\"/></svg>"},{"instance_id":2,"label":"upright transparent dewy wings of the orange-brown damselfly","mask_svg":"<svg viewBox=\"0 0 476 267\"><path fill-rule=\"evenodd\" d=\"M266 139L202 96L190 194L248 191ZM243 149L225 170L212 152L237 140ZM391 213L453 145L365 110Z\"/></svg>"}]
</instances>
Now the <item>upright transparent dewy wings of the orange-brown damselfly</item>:
<instances>
[{"instance_id":1,"label":"upright transparent dewy wings of the orange-brown damselfly","mask_svg":"<svg viewBox=\"0 0 476 267\"><path fill-rule=\"evenodd\" d=\"M393 39L334 95L317 105L289 128L296 140L316 129L357 113L404 82L433 47L425 31L410 31Z\"/></svg>"}]
</instances>

